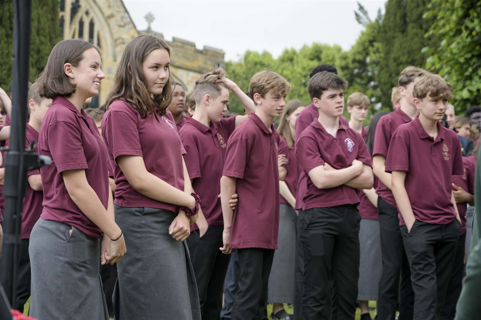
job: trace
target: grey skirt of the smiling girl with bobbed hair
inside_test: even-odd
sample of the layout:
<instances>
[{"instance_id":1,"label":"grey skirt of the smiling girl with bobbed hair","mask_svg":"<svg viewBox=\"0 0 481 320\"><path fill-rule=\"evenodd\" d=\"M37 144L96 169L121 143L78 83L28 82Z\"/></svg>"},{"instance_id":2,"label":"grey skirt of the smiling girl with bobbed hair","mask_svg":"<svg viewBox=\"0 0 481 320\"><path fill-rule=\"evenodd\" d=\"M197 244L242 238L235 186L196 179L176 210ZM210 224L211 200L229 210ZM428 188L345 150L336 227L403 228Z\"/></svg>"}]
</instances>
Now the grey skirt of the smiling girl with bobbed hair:
<instances>
[{"instance_id":1,"label":"grey skirt of the smiling girl with bobbed hair","mask_svg":"<svg viewBox=\"0 0 481 320\"><path fill-rule=\"evenodd\" d=\"M70 230L72 233L70 234ZM38 320L108 320L99 274L98 238L38 219L28 248L32 272L30 316Z\"/></svg>"}]
</instances>

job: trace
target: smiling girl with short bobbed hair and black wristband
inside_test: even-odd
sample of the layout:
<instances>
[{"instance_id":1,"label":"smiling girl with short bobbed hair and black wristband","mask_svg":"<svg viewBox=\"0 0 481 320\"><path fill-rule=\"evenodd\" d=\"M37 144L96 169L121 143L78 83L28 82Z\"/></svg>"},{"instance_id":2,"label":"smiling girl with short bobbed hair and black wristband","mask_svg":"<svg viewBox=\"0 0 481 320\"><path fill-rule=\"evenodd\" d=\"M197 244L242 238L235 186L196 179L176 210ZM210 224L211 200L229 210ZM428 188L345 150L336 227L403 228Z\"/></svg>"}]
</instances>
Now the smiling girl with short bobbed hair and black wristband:
<instances>
[{"instance_id":1,"label":"smiling girl with short bobbed hair and black wristband","mask_svg":"<svg viewBox=\"0 0 481 320\"><path fill-rule=\"evenodd\" d=\"M114 264L126 245L114 221L107 148L82 110L104 77L97 49L69 39L53 47L37 80L40 96L53 99L38 137L39 154L52 165L40 168L43 211L29 246L30 315L37 319L109 319L99 257Z\"/></svg>"}]
</instances>

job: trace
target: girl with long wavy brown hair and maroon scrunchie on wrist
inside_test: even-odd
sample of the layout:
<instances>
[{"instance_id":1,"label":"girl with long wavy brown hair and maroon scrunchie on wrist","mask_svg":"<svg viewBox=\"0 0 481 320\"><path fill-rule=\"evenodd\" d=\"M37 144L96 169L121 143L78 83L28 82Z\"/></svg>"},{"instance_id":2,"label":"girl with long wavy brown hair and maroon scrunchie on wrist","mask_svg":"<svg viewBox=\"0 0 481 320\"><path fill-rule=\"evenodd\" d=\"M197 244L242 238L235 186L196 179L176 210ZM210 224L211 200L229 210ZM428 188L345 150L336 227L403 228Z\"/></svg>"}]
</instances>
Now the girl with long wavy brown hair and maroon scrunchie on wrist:
<instances>
[{"instance_id":1,"label":"girl with long wavy brown hair and maroon scrunchie on wrist","mask_svg":"<svg viewBox=\"0 0 481 320\"><path fill-rule=\"evenodd\" d=\"M127 44L107 96L102 135L115 178L115 220L129 255L117 263L116 320L200 320L199 297L184 241L195 223L192 192L176 124L167 110L170 49L154 35ZM177 306L173 308L173 306Z\"/></svg>"}]
</instances>

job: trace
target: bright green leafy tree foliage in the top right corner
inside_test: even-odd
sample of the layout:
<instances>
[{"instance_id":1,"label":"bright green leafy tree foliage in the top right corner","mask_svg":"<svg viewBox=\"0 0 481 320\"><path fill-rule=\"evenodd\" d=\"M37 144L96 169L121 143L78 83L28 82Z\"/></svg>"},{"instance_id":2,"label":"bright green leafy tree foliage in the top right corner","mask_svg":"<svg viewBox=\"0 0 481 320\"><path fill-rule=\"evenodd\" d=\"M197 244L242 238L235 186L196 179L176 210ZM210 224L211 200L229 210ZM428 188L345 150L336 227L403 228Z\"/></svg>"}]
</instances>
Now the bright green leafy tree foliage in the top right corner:
<instances>
[{"instance_id":1,"label":"bright green leafy tree foliage in the top right corner","mask_svg":"<svg viewBox=\"0 0 481 320\"><path fill-rule=\"evenodd\" d=\"M433 0L426 19L434 20L428 38L442 37L424 49L427 68L453 84L457 113L481 104L481 0Z\"/></svg>"}]
</instances>

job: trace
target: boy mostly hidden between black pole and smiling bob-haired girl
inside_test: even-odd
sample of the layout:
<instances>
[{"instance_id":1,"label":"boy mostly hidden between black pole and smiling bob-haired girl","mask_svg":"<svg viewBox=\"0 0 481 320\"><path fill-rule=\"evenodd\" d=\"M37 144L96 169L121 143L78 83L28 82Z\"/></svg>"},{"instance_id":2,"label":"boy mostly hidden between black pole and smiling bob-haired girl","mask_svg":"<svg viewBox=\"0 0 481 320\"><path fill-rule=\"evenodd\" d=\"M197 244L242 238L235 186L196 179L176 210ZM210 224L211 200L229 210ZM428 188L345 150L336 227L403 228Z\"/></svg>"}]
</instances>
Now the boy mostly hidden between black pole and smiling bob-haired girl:
<instances>
[{"instance_id":1,"label":"boy mostly hidden between black pole and smiling bob-haired girl","mask_svg":"<svg viewBox=\"0 0 481 320\"><path fill-rule=\"evenodd\" d=\"M45 113L52 104L52 99L40 96L40 88L37 83L32 84L28 92L28 112L30 119L26 124L25 148L35 142L35 152L38 152L38 132L42 125ZM30 258L28 245L32 228L42 214L43 188L40 178L40 169L27 172L28 183L25 186L23 199L23 214L21 225L20 261L17 278L17 307L23 312L24 304L30 297Z\"/></svg>"}]
</instances>

